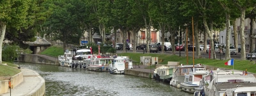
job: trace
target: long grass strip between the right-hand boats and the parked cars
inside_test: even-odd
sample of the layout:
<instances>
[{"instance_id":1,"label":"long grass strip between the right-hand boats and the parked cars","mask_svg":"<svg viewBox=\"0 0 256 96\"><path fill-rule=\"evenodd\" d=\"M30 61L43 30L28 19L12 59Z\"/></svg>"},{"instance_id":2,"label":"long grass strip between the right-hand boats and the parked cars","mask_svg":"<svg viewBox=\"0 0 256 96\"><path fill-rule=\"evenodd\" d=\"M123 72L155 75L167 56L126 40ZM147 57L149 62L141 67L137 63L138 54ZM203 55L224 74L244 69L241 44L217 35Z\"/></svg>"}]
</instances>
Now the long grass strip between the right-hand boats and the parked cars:
<instances>
[{"instance_id":1,"label":"long grass strip between the right-hand boats and the parked cars","mask_svg":"<svg viewBox=\"0 0 256 96\"><path fill-rule=\"evenodd\" d=\"M162 62L159 62L159 64L167 64L168 61L175 61L180 62L180 64L187 64L187 58L185 57L179 57L177 55L161 55L161 54L143 54L143 53L119 53L119 56L130 56L130 59L134 61L140 61L140 56L152 56L152 57L158 57L158 59L162 59ZM228 60L212 60L212 59L194 59L194 64L204 64L204 65L210 65L220 68L229 68L233 69L233 66L227 66L224 65L225 62ZM254 64L255 61L249 61L249 60L235 60L234 61L234 69L236 70L244 70L247 69L248 72L256 73L256 64ZM193 64L193 58L188 58L188 65Z\"/></svg>"}]
</instances>

